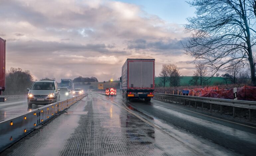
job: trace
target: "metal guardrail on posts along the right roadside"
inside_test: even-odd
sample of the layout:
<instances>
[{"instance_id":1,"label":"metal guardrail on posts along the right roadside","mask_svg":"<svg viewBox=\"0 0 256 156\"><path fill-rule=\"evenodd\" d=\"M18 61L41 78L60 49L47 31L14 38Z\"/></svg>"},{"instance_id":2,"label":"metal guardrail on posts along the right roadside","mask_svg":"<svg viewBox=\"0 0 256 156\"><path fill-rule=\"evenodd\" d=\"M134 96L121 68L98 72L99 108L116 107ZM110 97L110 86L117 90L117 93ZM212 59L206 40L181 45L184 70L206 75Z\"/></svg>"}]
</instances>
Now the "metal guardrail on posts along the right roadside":
<instances>
[{"instance_id":1,"label":"metal guardrail on posts along the right roadside","mask_svg":"<svg viewBox=\"0 0 256 156\"><path fill-rule=\"evenodd\" d=\"M218 99L218 98L207 98L207 97L196 97L196 96L186 96L186 95L172 95L172 94L163 94L163 93L154 93L154 99L160 101L169 101L173 103L179 103L186 105L186 102L194 102L196 107L198 103L201 103L201 109L203 109L203 104L210 105L210 112L212 110L212 105L220 105L220 113L222 114L222 106L231 106L233 107L233 117L235 117L235 108L246 108L249 109L249 120L251 121L251 110L256 110L255 101L241 101L241 100L230 100L230 99Z\"/></svg>"}]
</instances>

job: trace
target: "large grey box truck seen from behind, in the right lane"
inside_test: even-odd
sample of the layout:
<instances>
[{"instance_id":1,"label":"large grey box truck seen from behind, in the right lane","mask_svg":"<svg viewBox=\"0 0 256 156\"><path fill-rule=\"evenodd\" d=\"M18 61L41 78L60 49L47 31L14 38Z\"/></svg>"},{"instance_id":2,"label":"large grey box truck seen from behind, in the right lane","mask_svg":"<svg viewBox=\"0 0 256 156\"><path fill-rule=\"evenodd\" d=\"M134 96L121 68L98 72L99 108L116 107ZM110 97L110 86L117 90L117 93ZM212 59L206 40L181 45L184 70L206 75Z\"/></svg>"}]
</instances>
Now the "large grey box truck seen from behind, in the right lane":
<instances>
[{"instance_id":1,"label":"large grey box truck seen from behind, in the right lane","mask_svg":"<svg viewBox=\"0 0 256 156\"><path fill-rule=\"evenodd\" d=\"M122 96L125 101L144 99L149 102L154 97L155 59L130 59L122 66Z\"/></svg>"}]
</instances>

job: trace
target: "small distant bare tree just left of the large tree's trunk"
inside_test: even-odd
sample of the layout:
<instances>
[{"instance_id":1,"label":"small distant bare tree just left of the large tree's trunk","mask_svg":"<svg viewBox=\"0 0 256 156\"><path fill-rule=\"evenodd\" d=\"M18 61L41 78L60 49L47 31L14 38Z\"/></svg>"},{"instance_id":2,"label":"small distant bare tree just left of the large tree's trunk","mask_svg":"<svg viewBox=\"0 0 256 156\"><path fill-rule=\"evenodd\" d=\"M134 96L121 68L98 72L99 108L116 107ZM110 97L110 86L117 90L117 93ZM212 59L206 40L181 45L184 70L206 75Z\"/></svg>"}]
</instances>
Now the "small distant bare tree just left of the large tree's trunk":
<instances>
[{"instance_id":1,"label":"small distant bare tree just left of the large tree's trunk","mask_svg":"<svg viewBox=\"0 0 256 156\"><path fill-rule=\"evenodd\" d=\"M237 83L237 77L241 71L241 67L243 66L241 62L235 62L234 60L231 61L232 66L228 67L227 72L231 76L230 80L232 83Z\"/></svg>"}]
</instances>

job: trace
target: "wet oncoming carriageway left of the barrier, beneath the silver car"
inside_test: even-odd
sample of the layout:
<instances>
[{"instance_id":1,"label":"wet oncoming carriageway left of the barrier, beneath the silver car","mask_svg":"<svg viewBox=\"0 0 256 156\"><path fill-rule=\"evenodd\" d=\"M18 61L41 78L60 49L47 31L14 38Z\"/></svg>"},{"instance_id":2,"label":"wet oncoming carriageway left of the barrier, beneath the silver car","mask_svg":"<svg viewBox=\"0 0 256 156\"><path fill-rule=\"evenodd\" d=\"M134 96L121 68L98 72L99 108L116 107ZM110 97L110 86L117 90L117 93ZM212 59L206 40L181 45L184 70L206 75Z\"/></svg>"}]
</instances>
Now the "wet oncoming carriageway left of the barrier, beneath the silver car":
<instances>
[{"instance_id":1,"label":"wet oncoming carriageway left of the barrier, beneath the silver car","mask_svg":"<svg viewBox=\"0 0 256 156\"><path fill-rule=\"evenodd\" d=\"M65 99L66 98L61 98L60 100L62 101ZM0 121L6 120L9 117L14 117L21 113L24 113L42 106L43 105L32 105L32 107L28 107L27 99L0 102Z\"/></svg>"}]
</instances>

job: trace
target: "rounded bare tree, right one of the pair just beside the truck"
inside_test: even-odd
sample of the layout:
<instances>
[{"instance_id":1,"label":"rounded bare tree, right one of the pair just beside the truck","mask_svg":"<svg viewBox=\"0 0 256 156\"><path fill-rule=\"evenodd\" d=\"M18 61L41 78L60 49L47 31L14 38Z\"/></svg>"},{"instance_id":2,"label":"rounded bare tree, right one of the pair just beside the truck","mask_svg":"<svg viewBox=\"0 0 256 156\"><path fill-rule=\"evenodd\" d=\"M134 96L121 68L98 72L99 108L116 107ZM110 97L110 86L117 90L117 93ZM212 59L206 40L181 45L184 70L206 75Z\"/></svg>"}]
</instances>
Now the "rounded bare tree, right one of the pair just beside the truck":
<instances>
[{"instance_id":1,"label":"rounded bare tree, right one of the pair just beside the truck","mask_svg":"<svg viewBox=\"0 0 256 156\"><path fill-rule=\"evenodd\" d=\"M168 64L168 75L170 86L176 87L180 85L181 73L177 65Z\"/></svg>"}]
</instances>

